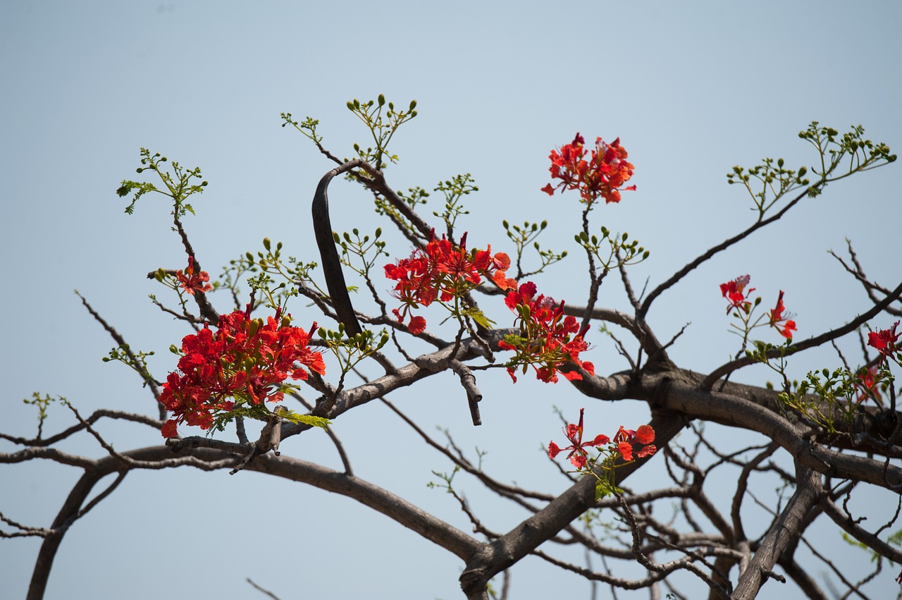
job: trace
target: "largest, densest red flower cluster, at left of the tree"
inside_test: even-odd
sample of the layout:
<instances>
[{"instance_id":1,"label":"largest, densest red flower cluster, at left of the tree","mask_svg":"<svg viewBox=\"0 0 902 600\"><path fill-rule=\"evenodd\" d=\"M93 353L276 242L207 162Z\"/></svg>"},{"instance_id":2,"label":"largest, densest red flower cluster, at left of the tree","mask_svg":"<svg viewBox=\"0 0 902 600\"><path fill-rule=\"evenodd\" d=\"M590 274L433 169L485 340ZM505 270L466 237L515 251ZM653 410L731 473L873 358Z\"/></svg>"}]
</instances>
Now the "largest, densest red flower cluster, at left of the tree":
<instances>
[{"instance_id":1,"label":"largest, densest red flower cluster, at left of the tree","mask_svg":"<svg viewBox=\"0 0 902 600\"><path fill-rule=\"evenodd\" d=\"M310 337L302 328L290 327L289 318L251 319L250 307L219 318L214 333L208 325L181 340L179 372L170 373L163 383L160 402L172 411L162 434L178 435L181 422L209 429L213 411L231 411L239 403L260 405L279 402L290 386L288 379L307 379L298 362L318 374L326 373L323 357L308 348ZM314 323L310 330L317 328Z\"/></svg>"}]
</instances>

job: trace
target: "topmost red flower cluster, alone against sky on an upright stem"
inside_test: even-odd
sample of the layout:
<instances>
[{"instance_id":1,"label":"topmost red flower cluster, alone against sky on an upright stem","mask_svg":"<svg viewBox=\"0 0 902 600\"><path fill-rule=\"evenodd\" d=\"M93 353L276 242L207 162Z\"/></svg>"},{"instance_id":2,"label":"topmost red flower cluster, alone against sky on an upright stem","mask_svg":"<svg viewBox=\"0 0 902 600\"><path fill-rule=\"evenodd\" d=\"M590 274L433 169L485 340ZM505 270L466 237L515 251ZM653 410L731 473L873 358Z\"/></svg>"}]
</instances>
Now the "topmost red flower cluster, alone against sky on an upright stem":
<instances>
[{"instance_id":1,"label":"topmost red flower cluster, alone against sky on an upright stem","mask_svg":"<svg viewBox=\"0 0 902 600\"><path fill-rule=\"evenodd\" d=\"M619 137L610 144L596 138L588 161L584 143L583 136L576 134L573 142L562 146L560 152L551 151L548 155L551 179L561 182L554 187L548 183L542 191L554 196L558 188L578 189L583 201L591 205L599 197L605 203L620 202L621 190L636 189L634 185L621 188L632 177L633 166L626 161L627 152L621 147Z\"/></svg>"}]
</instances>

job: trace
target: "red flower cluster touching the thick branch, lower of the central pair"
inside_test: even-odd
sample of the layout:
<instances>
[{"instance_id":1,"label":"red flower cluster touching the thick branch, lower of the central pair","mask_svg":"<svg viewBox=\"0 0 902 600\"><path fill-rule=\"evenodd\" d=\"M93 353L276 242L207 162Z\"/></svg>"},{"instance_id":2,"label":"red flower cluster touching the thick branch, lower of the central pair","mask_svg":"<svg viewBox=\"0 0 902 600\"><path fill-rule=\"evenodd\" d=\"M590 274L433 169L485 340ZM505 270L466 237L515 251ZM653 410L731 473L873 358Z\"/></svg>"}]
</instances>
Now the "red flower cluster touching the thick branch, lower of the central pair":
<instances>
[{"instance_id":1,"label":"red flower cluster touching the thick branch, lower of the central pair","mask_svg":"<svg viewBox=\"0 0 902 600\"><path fill-rule=\"evenodd\" d=\"M553 298L544 294L535 296L536 284L526 282L518 291L508 292L504 299L508 308L517 313L515 324L520 324L519 336L509 335L498 343L502 350L517 353L507 365L514 383L517 382L514 374L517 365L522 365L523 373L526 373L526 365L532 365L536 378L546 383L557 383L557 369L567 362L594 374L594 365L579 359L579 353L589 347L585 343L585 331L580 330L574 317L564 314L564 302L556 304ZM562 374L569 380L583 378L578 371Z\"/></svg>"}]
</instances>

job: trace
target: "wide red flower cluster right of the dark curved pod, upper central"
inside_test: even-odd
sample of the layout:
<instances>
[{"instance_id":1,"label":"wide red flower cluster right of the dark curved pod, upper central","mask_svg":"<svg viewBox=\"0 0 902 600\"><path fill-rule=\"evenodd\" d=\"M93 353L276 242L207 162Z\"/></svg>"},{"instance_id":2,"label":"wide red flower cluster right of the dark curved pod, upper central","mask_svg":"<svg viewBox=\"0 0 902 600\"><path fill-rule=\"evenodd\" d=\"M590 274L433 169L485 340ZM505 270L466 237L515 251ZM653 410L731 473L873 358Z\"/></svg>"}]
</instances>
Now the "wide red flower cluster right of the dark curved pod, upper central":
<instances>
[{"instance_id":1,"label":"wide red flower cluster right of the dark curved pod, upper central","mask_svg":"<svg viewBox=\"0 0 902 600\"><path fill-rule=\"evenodd\" d=\"M482 283L483 277L502 290L514 289L517 282L507 278L509 268L511 258L503 252L492 256L491 245L485 250L467 252L466 234L461 237L460 245L454 245L444 235L437 240L433 231L425 249L417 248L410 258L385 265L385 276L398 282L394 295L403 303L400 309L391 312L403 323L411 309L428 306L436 300L447 302L459 298ZM425 318L410 318L410 333L422 333L425 328Z\"/></svg>"}]
</instances>

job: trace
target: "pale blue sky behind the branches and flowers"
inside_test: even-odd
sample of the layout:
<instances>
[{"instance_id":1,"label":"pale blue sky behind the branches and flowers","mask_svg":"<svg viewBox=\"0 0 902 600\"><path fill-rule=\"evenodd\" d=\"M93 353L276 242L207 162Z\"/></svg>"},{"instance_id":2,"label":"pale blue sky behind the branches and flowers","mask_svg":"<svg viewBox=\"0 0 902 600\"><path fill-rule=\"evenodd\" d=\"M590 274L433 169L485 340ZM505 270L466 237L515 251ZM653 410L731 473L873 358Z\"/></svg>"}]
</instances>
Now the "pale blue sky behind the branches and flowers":
<instances>
[{"instance_id":1,"label":"pale blue sky behind the branches and flowers","mask_svg":"<svg viewBox=\"0 0 902 600\"><path fill-rule=\"evenodd\" d=\"M218 265L259 249L264 236L282 240L288 254L318 260L308 202L332 164L280 127L281 111L320 119L327 147L347 156L354 142L364 142L347 100L384 93L406 105L416 98L419 116L393 142L400 164L388 170L392 187L431 188L472 173L480 192L468 198L471 215L462 230L469 229L473 245L498 250L507 249L502 218L548 218L544 245L572 246L575 196L549 199L539 191L548 182L548 151L576 131L587 139L620 136L639 189L599 209L594 226L629 231L651 250L633 281L641 286L649 278L653 287L750 222L750 200L726 185L732 165L751 166L764 156L810 164L813 153L796 137L810 121L842 131L861 124L871 139L902 148L900 31L902 5L894 1L556 8L9 0L0 5L2 429L33 433L36 417L21 400L36 390L66 396L82 414L101 407L155 413L135 377L100 362L113 343L72 293L82 292L133 347L156 350L151 368L158 379L173 367L166 348L186 330L152 307L147 295L165 292L144 277L184 262L169 209L145 198L127 217L115 196L119 182L135 176L142 146L199 165L210 181L195 202L198 217L186 226L198 260L216 274ZM737 275L749 272L766 302L786 291L800 337L867 307L861 288L825 253L842 251L846 236L873 278L897 282L897 171L894 165L829 187L661 297L649 314L659 337L692 323L672 352L677 362L704 371L735 352L717 284ZM364 192L336 181L330 198L337 230L377 226ZM398 238L389 250L409 252ZM584 259L569 250L562 269L538 283L579 303ZM603 288L600 302L624 308L617 289ZM489 310L508 318L506 309ZM303 324L315 316L301 303L292 312ZM599 371L624 368L601 335L590 341L597 346L586 357ZM801 376L834 363L825 352L793 368ZM737 379L766 377L750 371ZM561 437L552 405L573 418L585 406L588 422L609 434L647 416L643 405L590 402L566 383L511 388L498 373L480 380L484 424L474 429L462 392L447 395L454 380L436 379L393 400L427 429L448 427L462 447L486 448L487 468L499 478L542 489L565 485L537 449ZM58 408L45 431L70 421ZM147 428L105 421L101 430L116 448L160 442ZM470 530L450 496L425 487L430 470L449 466L381 406L345 415L336 431L359 475ZM103 455L87 437L63 448ZM337 466L316 432L290 439L282 450ZM3 466L0 510L47 526L77 475L52 464ZM656 483L653 475L630 481L639 489ZM525 516L471 481L459 485L495 531ZM284 525L274 521L277 512ZM273 527L282 527L276 540L263 543ZM0 541L0 581L9 597L23 596L38 545ZM129 475L78 522L57 555L47 597L262 597L244 583L252 577L283 600L454 598L461 568L445 551L345 498L252 473L179 469ZM531 558L514 570L513 585L517 598L562 590L584 597L588 590Z\"/></svg>"}]
</instances>

